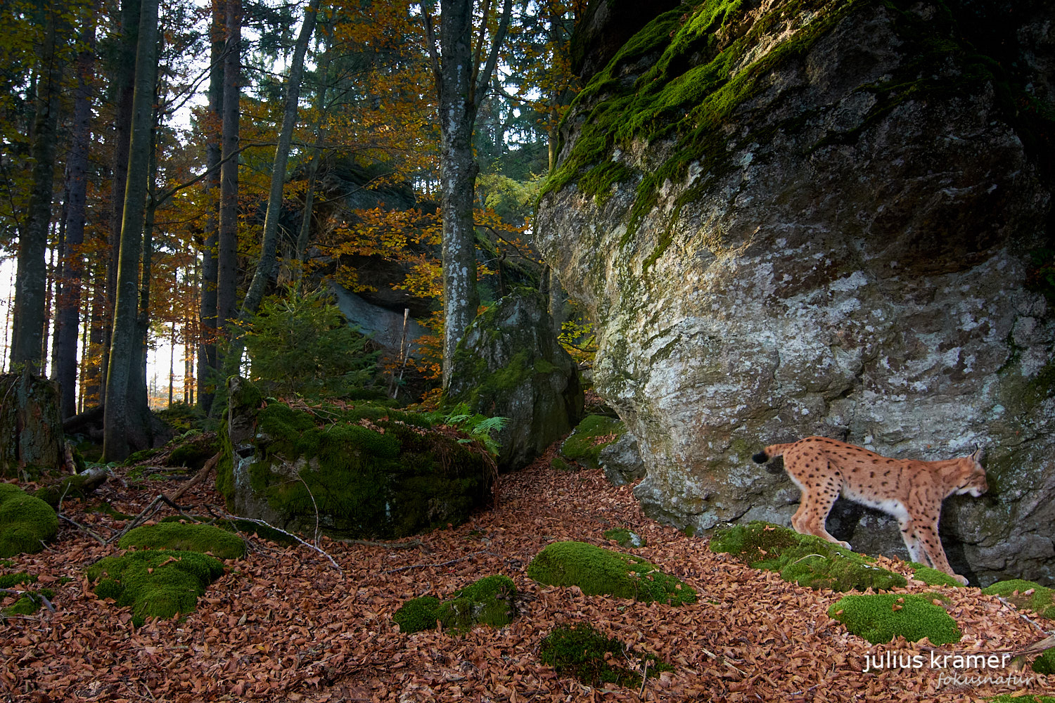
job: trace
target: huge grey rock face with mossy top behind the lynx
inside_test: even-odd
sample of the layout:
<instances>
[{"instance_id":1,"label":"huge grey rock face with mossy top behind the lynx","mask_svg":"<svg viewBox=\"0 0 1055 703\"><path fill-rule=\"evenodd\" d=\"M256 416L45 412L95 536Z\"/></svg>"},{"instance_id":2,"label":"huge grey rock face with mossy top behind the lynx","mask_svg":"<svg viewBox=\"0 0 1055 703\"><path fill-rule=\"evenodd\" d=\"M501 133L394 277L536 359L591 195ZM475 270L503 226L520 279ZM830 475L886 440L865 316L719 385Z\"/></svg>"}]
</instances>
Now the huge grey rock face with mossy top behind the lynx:
<instances>
[{"instance_id":1,"label":"huge grey rock face with mossy top behind the lynx","mask_svg":"<svg viewBox=\"0 0 1055 703\"><path fill-rule=\"evenodd\" d=\"M809 434L980 445L989 494L944 506L954 568L1052 583L1047 4L991 39L1032 41L1014 76L941 2L749 0L659 16L582 91L537 245L595 318L651 515L789 524L798 489L750 455ZM829 530L905 555L878 512L840 502Z\"/></svg>"}]
</instances>

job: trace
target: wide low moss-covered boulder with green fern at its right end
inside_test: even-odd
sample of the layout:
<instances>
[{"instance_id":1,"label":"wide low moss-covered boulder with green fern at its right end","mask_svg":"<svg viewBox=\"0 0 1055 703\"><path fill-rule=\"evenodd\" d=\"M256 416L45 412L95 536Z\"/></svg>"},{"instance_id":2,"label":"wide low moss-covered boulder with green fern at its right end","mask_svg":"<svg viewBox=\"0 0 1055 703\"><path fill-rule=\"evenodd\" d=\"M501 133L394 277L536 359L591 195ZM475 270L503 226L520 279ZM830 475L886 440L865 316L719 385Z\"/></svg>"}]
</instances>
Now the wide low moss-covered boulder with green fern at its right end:
<instances>
[{"instance_id":1,"label":"wide low moss-covered boulder with green fern at its right end","mask_svg":"<svg viewBox=\"0 0 1055 703\"><path fill-rule=\"evenodd\" d=\"M378 405L312 411L230 382L216 488L244 518L339 538L395 538L460 524L492 495L479 444Z\"/></svg>"}]
</instances>

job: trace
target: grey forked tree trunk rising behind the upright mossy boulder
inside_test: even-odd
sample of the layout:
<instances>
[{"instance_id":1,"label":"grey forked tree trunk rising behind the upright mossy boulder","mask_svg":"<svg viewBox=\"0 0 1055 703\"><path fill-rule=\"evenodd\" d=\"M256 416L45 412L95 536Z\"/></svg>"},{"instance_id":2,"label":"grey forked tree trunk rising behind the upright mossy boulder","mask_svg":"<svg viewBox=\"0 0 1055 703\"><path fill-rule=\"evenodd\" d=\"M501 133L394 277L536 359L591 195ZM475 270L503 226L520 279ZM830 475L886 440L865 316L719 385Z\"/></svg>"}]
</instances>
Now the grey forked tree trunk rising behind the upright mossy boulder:
<instances>
[{"instance_id":1,"label":"grey forked tree trunk rising behind the upright mossy boulder","mask_svg":"<svg viewBox=\"0 0 1055 703\"><path fill-rule=\"evenodd\" d=\"M485 4L486 8L487 4ZM476 230L473 200L478 167L473 157L473 128L498 60L512 12L505 0L486 63L480 39L473 51L473 0L442 0L440 52L436 53L431 18L422 3L433 73L439 96L440 208L443 213L443 387L450 382L452 360L479 307L476 289ZM486 9L485 9L486 14ZM486 23L488 18L484 17Z\"/></svg>"}]
</instances>

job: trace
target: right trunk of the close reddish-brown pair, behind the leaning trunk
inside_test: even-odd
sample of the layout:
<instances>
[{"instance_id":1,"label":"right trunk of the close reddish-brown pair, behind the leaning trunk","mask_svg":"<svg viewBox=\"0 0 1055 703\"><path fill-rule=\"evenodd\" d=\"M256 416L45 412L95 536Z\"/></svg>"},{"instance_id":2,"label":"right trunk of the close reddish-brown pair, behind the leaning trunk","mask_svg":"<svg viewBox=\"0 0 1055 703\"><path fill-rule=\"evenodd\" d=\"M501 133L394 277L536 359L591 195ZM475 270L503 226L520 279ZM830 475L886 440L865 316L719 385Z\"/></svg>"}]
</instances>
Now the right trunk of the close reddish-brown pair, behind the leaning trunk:
<instances>
[{"instance_id":1,"label":"right trunk of the close reddish-brown pair, behind the leaning trunk","mask_svg":"<svg viewBox=\"0 0 1055 703\"><path fill-rule=\"evenodd\" d=\"M219 182L219 241L216 272L217 327L227 330L236 312L238 251L238 101L242 41L241 0L227 0L224 51L223 167Z\"/></svg>"}]
</instances>

